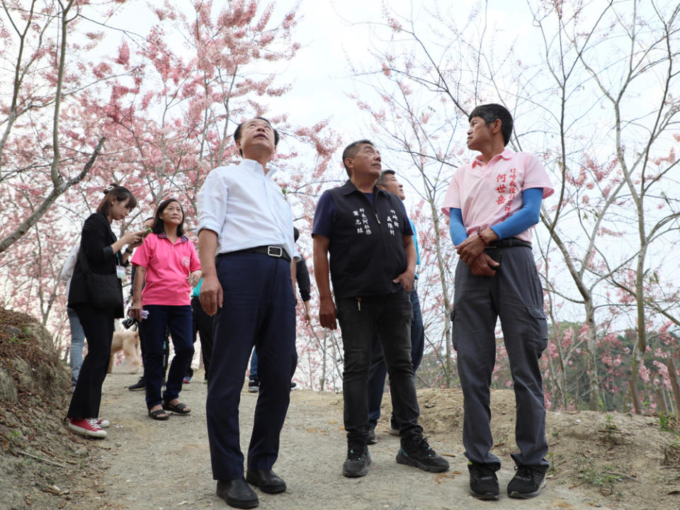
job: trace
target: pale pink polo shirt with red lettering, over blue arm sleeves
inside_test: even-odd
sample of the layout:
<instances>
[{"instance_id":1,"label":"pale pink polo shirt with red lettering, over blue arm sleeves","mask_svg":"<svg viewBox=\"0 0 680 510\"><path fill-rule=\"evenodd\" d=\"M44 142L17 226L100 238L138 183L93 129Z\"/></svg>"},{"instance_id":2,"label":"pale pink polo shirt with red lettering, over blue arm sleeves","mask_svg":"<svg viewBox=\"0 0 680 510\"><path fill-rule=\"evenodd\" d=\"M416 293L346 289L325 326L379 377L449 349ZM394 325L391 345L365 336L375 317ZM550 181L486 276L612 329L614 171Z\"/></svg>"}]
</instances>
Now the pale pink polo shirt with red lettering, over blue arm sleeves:
<instances>
[{"instance_id":1,"label":"pale pink polo shirt with red lettering, over blue arm sleeves","mask_svg":"<svg viewBox=\"0 0 680 510\"><path fill-rule=\"evenodd\" d=\"M514 215L522 208L522 191L531 188L543 188L544 199L555 191L535 154L505 149L487 164L480 154L455 171L441 210L448 217L451 208L460 209L469 236ZM531 241L532 229L516 237Z\"/></svg>"}]
</instances>

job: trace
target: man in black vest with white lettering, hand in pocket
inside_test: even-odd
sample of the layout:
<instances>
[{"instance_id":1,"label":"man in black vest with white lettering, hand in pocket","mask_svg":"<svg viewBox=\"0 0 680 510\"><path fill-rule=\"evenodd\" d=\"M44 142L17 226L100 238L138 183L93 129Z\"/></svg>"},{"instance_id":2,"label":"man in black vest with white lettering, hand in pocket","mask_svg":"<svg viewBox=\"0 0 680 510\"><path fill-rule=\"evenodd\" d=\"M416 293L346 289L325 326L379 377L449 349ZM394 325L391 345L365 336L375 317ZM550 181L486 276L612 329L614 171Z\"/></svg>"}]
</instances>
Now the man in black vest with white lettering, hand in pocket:
<instances>
[{"instance_id":1,"label":"man in black vest with white lettering, hand in pocket","mask_svg":"<svg viewBox=\"0 0 680 510\"><path fill-rule=\"evenodd\" d=\"M380 335L390 374L392 408L399 421L397 463L422 470L448 470L423 436L411 363L412 307L416 250L406 209L399 197L375 186L382 165L368 140L348 145L342 161L344 186L323 193L314 212L314 276L319 289L319 322L340 322L344 348L346 477L368 472L368 368L375 333ZM328 255L330 254L330 261ZM331 297L329 269L335 303ZM337 310L336 310L337 307Z\"/></svg>"}]
</instances>

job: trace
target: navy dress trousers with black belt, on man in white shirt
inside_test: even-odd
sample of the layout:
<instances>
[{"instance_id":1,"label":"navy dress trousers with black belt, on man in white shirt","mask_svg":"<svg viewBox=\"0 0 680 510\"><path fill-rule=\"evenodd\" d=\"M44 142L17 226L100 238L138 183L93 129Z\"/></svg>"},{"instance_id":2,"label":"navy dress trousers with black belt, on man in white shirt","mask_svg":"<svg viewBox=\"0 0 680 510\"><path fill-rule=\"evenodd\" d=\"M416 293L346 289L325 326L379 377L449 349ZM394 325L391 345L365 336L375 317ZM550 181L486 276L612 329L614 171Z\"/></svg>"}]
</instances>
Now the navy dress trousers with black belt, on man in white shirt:
<instances>
[{"instance_id":1,"label":"navy dress trousers with black belt, on man in white shirt","mask_svg":"<svg viewBox=\"0 0 680 510\"><path fill-rule=\"evenodd\" d=\"M208 380L208 441L212 477L244 475L239 443L239 402L248 358L256 347L260 391L248 448L248 467L271 469L290 402L295 373L295 295L290 263L265 254L217 256L224 302L213 322Z\"/></svg>"}]
</instances>

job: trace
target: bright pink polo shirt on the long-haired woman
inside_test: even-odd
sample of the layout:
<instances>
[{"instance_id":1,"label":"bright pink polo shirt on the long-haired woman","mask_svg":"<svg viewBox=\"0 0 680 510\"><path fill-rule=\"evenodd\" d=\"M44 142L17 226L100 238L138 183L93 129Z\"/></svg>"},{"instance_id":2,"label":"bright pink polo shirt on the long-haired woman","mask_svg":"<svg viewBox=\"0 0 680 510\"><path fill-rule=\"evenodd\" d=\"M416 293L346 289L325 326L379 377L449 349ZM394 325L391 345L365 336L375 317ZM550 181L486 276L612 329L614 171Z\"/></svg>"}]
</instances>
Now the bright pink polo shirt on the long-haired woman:
<instances>
[{"instance_id":1,"label":"bright pink polo shirt on the long-haired woman","mask_svg":"<svg viewBox=\"0 0 680 510\"><path fill-rule=\"evenodd\" d=\"M200 269L196 248L188 237L175 244L164 233L149 234L131 262L147 268L142 305L191 305L189 273Z\"/></svg>"}]
</instances>

